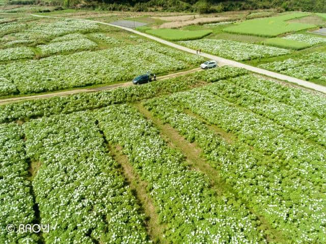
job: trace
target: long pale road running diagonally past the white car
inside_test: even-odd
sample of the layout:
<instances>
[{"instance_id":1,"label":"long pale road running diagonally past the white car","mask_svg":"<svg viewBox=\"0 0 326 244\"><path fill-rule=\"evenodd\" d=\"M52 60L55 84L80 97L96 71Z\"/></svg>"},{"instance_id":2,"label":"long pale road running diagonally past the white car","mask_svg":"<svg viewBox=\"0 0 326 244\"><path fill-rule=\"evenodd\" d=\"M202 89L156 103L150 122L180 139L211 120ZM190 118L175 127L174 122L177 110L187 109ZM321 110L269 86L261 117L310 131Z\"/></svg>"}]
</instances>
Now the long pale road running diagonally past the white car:
<instances>
[{"instance_id":1,"label":"long pale road running diagonally past the white car","mask_svg":"<svg viewBox=\"0 0 326 244\"><path fill-rule=\"evenodd\" d=\"M43 15L37 15L37 14L30 14L30 15L35 16L35 17L60 18L60 17L43 16ZM70 19L77 19L77 18L70 18ZM105 22L101 22L101 21L86 20L86 19L79 19L79 20L91 21L91 22L95 22L95 23L114 26L116 28L120 28L120 29L126 30L128 32L132 32L134 34L138 34L140 36L147 37L147 38L149 38L151 40L160 42L162 44L165 44L165 45L168 45L168 46L171 46L171 47L174 47L174 48L186 51L186 52L196 54L196 50L193 50L191 48L184 47L184 46L178 45L176 43L169 42L169 41L160 39L158 37L154 37L154 36L151 36L151 35L148 35L146 33L142 33L142 32L130 29L130 28L126 28L126 27L123 27L123 26L118 26L118 25L114 25L114 24L110 24L110 23L105 23ZM306 80L303 80L303 79L298 79L298 78L294 78L294 77L291 77L291 76L288 76L288 75L279 74L279 73L276 73L276 72L273 72L273 71L260 69L260 68L250 66L250 65L247 65L247 64L242 64L242 63L239 63L239 62L236 62L236 61L233 61L233 60L228 60L228 59L224 59L224 58L221 58L221 57L218 57L218 56L215 56L215 55L210 55L208 53L203 53L202 52L201 56L203 56L205 58L208 58L208 59L211 59L211 60L216 60L216 61L219 62L220 65L230 65L230 66L234 66L234 67L247 69L249 71L252 71L252 72L255 72L255 73L258 73L258 74L263 74L263 75L266 75L266 76L269 76L269 77L272 77L272 78L285 80L286 82L294 83L294 84L297 84L299 86L307 87L309 89L313 89L313 90L316 90L316 91L319 91L319 92L322 92L322 93L326 93L326 87L314 84L312 82L307 82Z\"/></svg>"}]
</instances>

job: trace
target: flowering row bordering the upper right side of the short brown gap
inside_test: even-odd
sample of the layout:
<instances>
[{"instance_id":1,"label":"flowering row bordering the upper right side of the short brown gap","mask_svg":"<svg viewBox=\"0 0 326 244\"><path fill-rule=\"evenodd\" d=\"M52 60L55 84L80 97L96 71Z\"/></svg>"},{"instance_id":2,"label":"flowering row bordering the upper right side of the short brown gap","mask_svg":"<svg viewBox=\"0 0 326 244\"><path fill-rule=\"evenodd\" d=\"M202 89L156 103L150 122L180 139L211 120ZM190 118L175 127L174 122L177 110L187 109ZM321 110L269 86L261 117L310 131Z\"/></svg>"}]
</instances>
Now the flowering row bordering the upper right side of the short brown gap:
<instances>
[{"instance_id":1,"label":"flowering row bordering the upper right side of the short brown gap","mask_svg":"<svg viewBox=\"0 0 326 244\"><path fill-rule=\"evenodd\" d=\"M205 86L189 92L173 94L171 97L176 97L187 109L202 116L208 122L231 131L242 143L250 144L266 155L279 157L284 161L300 162L309 172L314 172L314 166L322 172L320 164L326 157L325 148L310 143L302 135L272 120L214 95L210 92L213 87L214 85ZM303 173L307 172L303 171ZM315 174L313 179L320 177L321 175Z\"/></svg>"}]
</instances>

